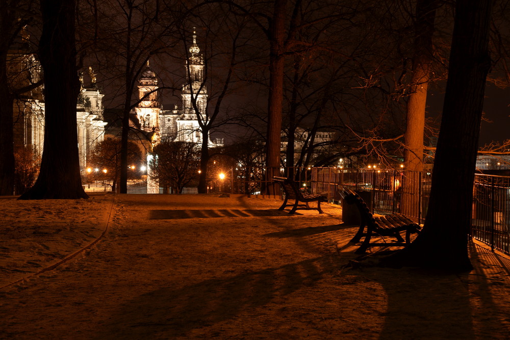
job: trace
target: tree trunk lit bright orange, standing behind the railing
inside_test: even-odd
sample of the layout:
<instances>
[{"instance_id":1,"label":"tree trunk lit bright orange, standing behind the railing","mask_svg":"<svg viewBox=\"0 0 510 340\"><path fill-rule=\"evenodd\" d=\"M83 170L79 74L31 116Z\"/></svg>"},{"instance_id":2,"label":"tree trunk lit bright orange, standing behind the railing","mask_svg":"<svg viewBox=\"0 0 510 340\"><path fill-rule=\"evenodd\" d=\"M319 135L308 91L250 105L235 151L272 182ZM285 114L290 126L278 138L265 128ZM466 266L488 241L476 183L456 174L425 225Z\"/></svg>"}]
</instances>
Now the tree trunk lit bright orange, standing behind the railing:
<instances>
[{"instance_id":1,"label":"tree trunk lit bright orange, standing behind the railing","mask_svg":"<svg viewBox=\"0 0 510 340\"><path fill-rule=\"evenodd\" d=\"M432 36L436 18L436 0L419 0L416 5L415 56L413 58L412 93L407 99L404 163L407 176L403 181L400 212L418 216L420 186L416 172L423 171L423 133L427 88L432 63Z\"/></svg>"}]
</instances>

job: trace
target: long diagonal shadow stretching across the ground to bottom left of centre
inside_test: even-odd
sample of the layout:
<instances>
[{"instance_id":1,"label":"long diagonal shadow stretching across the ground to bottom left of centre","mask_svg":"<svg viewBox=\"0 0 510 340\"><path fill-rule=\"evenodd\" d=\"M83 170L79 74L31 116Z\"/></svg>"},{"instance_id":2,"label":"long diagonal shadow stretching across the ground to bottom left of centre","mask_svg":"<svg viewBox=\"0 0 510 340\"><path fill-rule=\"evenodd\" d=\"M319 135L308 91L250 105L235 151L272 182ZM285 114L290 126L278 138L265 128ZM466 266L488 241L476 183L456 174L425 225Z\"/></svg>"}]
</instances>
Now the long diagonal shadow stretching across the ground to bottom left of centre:
<instances>
[{"instance_id":1,"label":"long diagonal shadow stretching across the ground to bottom left of centre","mask_svg":"<svg viewBox=\"0 0 510 340\"><path fill-rule=\"evenodd\" d=\"M111 334L117 338L188 337L195 329L233 319L312 286L340 265L338 256L321 256L179 288L162 287L125 303L98 329L97 338Z\"/></svg>"}]
</instances>

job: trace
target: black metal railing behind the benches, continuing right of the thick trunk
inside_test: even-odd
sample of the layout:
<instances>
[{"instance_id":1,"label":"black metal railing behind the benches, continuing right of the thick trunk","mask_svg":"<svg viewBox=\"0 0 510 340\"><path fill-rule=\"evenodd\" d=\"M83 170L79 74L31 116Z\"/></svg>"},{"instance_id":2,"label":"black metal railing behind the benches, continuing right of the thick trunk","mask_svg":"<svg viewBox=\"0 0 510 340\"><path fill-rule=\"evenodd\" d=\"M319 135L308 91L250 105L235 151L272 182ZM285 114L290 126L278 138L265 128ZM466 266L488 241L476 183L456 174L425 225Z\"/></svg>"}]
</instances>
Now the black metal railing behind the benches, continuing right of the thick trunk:
<instances>
[{"instance_id":1,"label":"black metal railing behind the benches, continuing right of the thick trunk","mask_svg":"<svg viewBox=\"0 0 510 340\"><path fill-rule=\"evenodd\" d=\"M401 213L423 223L431 186L430 172L313 168L314 193L340 201L338 187L365 192L376 213ZM476 174L471 236L510 254L510 177Z\"/></svg>"}]
</instances>

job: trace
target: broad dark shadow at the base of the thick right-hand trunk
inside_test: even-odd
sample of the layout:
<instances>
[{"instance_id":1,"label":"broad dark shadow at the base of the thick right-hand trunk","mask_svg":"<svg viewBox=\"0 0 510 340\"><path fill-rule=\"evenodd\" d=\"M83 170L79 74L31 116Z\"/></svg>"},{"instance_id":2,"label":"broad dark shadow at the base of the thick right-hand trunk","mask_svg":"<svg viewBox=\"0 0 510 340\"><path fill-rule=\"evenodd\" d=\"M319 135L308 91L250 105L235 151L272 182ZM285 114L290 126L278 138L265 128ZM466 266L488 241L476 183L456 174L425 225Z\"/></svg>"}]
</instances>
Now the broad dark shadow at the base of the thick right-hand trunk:
<instances>
[{"instance_id":1,"label":"broad dark shadow at the base of the thick right-hand trunk","mask_svg":"<svg viewBox=\"0 0 510 340\"><path fill-rule=\"evenodd\" d=\"M386 293L380 339L474 337L468 292L456 275L373 267L363 276Z\"/></svg>"}]
</instances>

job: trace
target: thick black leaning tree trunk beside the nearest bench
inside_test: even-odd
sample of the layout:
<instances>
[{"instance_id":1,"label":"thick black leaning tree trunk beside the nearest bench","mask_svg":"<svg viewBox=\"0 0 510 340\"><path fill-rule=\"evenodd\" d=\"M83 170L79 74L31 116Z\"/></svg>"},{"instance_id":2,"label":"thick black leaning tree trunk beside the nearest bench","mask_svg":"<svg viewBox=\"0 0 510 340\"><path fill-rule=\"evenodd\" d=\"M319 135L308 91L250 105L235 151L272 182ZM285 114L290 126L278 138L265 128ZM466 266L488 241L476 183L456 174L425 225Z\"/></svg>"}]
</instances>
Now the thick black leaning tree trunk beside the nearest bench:
<instances>
[{"instance_id":1,"label":"thick black leaning tree trunk beside the nearest bench","mask_svg":"<svg viewBox=\"0 0 510 340\"><path fill-rule=\"evenodd\" d=\"M448 82L428 213L422 233L389 261L472 269L468 256L473 181L486 77L492 2L456 3Z\"/></svg>"}]
</instances>

